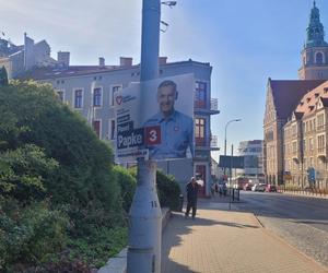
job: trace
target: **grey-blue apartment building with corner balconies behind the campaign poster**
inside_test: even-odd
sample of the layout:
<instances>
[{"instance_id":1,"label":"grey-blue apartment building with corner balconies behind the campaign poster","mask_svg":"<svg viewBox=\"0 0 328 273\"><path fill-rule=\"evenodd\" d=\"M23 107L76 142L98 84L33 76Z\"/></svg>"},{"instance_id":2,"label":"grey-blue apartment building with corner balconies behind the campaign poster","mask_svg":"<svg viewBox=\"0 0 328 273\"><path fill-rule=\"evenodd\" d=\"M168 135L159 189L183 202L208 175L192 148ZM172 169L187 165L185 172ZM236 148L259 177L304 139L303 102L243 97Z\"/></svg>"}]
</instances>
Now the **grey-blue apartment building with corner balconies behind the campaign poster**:
<instances>
[{"instance_id":1,"label":"grey-blue apartment building with corner balconies behind the campaign poster","mask_svg":"<svg viewBox=\"0 0 328 273\"><path fill-rule=\"evenodd\" d=\"M69 58L69 56L66 56ZM66 59L66 62L69 60ZM210 63L187 61L167 62L160 58L160 78L192 73L195 90L194 120L196 151L191 159L159 162L157 167L164 173L174 175L184 190L191 176L204 181L201 195L210 194L211 154L219 150L216 136L211 134L211 115L219 114L218 99L211 97ZM108 141L115 150L115 93L140 79L140 66L132 64L132 58L121 57L119 64L106 66L99 58L98 66L61 66L35 68L24 75L50 83L58 93L59 99L80 112L94 128L102 140Z\"/></svg>"}]
</instances>

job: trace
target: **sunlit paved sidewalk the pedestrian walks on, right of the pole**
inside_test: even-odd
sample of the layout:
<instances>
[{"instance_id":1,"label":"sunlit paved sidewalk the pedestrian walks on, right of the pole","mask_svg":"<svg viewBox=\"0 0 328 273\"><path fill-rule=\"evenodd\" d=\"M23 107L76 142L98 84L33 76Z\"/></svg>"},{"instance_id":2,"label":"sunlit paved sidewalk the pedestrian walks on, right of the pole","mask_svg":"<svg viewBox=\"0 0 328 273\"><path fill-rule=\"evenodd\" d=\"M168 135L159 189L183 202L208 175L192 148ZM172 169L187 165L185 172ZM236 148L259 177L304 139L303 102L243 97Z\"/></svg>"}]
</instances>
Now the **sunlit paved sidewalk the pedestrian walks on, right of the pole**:
<instances>
[{"instance_id":1,"label":"sunlit paved sidewalk the pedestrian walks on, right of the pole","mask_svg":"<svg viewBox=\"0 0 328 273\"><path fill-rule=\"evenodd\" d=\"M162 237L161 273L328 272L260 226L251 213L200 200L197 218L173 213Z\"/></svg>"}]
</instances>

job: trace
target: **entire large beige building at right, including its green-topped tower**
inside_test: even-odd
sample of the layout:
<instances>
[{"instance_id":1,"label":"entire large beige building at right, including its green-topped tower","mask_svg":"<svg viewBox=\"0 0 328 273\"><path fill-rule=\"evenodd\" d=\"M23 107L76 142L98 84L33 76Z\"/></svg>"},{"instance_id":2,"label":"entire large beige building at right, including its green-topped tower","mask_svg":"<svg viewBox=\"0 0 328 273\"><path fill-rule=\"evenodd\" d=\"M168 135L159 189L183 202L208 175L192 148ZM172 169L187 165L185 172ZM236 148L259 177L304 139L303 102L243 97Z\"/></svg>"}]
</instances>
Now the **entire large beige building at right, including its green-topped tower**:
<instances>
[{"instance_id":1,"label":"entire large beige building at right, including its green-topped tower","mask_svg":"<svg viewBox=\"0 0 328 273\"><path fill-rule=\"evenodd\" d=\"M305 187L315 168L317 183L327 187L328 44L315 1L306 33L300 80L268 81L263 169L267 182Z\"/></svg>"}]
</instances>

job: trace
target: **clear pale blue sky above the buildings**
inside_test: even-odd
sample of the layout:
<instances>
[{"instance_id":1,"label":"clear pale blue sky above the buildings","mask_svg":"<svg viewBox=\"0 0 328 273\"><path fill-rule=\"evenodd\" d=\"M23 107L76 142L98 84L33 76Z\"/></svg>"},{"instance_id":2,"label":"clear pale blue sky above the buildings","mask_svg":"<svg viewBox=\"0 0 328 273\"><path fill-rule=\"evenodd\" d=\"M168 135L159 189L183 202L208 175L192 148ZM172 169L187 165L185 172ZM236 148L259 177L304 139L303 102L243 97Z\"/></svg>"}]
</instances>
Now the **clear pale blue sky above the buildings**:
<instances>
[{"instance_id":1,"label":"clear pale blue sky above the buildings","mask_svg":"<svg viewBox=\"0 0 328 273\"><path fill-rule=\"evenodd\" d=\"M52 56L71 52L72 64L106 64L119 57L140 61L141 0L0 0L0 31L14 44L24 32L36 41L46 39ZM317 0L328 31L328 1ZM227 146L262 139L266 85L273 80L296 80L312 0L178 0L162 7L169 24L161 34L161 56L168 61L210 62L212 97L220 115L212 117L212 134L223 153ZM328 38L326 37L326 40ZM230 149L229 149L230 151Z\"/></svg>"}]
</instances>

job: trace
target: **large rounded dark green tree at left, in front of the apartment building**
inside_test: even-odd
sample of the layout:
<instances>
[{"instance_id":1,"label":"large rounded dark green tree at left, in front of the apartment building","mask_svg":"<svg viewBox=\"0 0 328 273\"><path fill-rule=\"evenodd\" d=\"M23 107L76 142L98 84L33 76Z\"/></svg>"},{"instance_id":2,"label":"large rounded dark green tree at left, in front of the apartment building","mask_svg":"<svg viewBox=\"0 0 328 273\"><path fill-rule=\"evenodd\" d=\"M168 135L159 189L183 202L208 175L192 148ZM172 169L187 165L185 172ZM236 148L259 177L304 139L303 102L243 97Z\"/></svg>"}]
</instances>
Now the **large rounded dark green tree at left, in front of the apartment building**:
<instances>
[{"instance_id":1,"label":"large rounded dark green tree at left, in front of the apartment building","mask_svg":"<svg viewBox=\"0 0 328 273\"><path fill-rule=\"evenodd\" d=\"M92 224L113 225L113 215L119 217L121 212L113 151L86 121L61 104L50 85L35 82L14 81L0 87L0 110L5 114L0 116L0 152L30 144L43 151L44 159L57 162L51 173L46 171L47 179L39 180L45 198L51 197L55 204L70 204L79 217L102 211L102 217ZM50 162L47 164L49 167ZM40 174L40 169L31 171Z\"/></svg>"}]
</instances>

